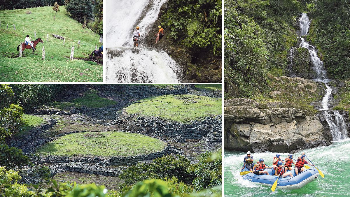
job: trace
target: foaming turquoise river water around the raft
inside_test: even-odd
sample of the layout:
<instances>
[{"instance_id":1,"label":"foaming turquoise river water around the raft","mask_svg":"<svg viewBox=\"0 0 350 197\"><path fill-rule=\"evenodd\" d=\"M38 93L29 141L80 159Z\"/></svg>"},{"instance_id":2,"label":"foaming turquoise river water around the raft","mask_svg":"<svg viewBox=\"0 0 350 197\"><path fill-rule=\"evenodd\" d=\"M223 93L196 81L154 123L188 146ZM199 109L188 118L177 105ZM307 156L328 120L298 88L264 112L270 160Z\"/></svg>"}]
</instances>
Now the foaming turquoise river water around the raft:
<instances>
[{"instance_id":1,"label":"foaming turquoise river water around the raft","mask_svg":"<svg viewBox=\"0 0 350 197\"><path fill-rule=\"evenodd\" d=\"M296 159L302 152L324 173L301 189L271 191L271 187L259 185L239 176L243 166L245 152L225 151L224 153L224 194L231 196L350 196L350 138L335 141L327 147L302 150L293 154ZM254 160L264 158L265 163L272 165L276 153L253 153ZM281 158L286 158L281 154ZM254 161L255 162L255 161ZM294 167L294 165L293 165Z\"/></svg>"}]
</instances>

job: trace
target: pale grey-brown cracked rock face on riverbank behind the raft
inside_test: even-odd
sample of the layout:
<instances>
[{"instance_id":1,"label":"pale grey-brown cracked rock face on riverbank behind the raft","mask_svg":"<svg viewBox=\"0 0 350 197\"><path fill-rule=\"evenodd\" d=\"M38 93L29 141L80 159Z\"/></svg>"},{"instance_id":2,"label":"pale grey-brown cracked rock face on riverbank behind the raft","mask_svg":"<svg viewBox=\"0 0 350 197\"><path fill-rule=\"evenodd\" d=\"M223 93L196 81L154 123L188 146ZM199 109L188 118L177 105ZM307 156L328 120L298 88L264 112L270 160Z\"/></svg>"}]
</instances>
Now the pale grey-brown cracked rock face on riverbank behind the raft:
<instances>
[{"instance_id":1,"label":"pale grey-brown cracked rock face on riverbank behind the raft","mask_svg":"<svg viewBox=\"0 0 350 197\"><path fill-rule=\"evenodd\" d=\"M224 147L229 150L290 153L331 144L320 118L288 102L229 99L224 115Z\"/></svg>"}]
</instances>

